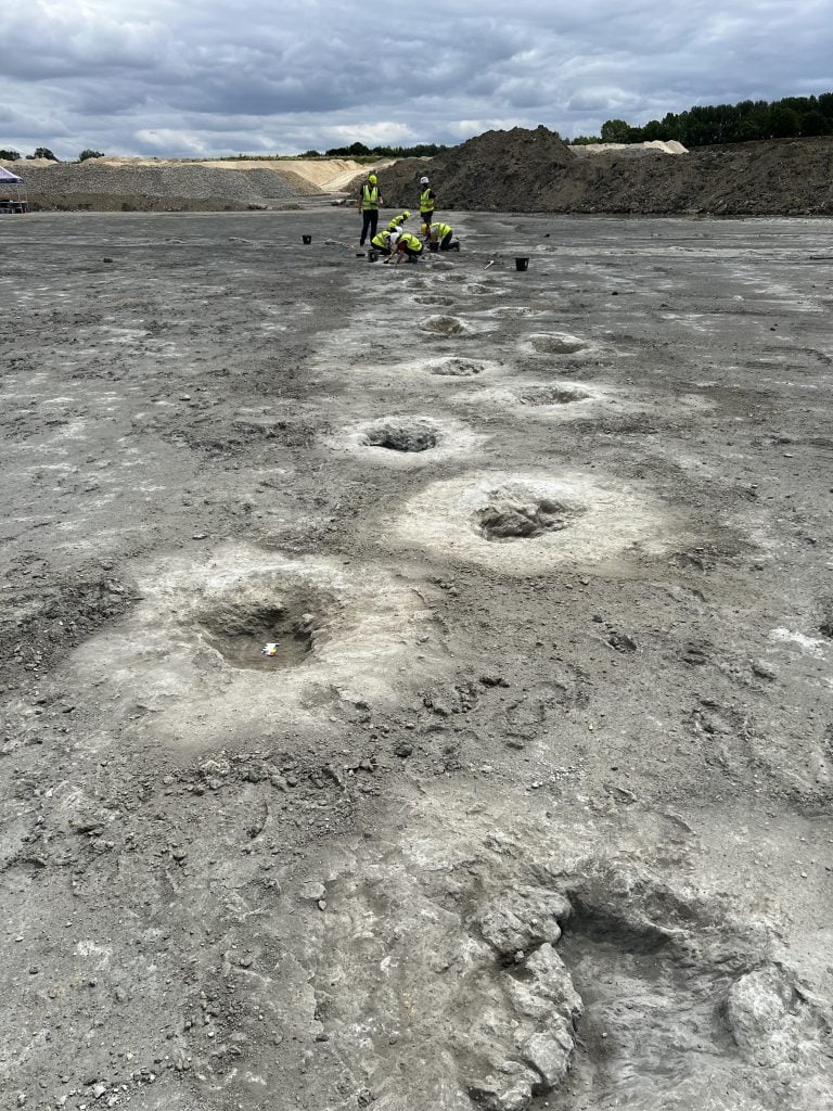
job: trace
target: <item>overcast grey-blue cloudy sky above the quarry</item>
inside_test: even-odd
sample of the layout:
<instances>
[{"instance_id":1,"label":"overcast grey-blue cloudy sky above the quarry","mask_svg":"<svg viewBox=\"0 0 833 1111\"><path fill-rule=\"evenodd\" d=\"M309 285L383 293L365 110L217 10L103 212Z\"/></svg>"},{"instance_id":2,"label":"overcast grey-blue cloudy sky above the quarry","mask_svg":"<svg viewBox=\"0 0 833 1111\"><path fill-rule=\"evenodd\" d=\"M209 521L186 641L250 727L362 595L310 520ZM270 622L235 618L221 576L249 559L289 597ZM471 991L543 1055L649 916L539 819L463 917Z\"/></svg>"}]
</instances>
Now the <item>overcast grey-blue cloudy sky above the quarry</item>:
<instances>
[{"instance_id":1,"label":"overcast grey-blue cloudy sky above the quarry","mask_svg":"<svg viewBox=\"0 0 833 1111\"><path fill-rule=\"evenodd\" d=\"M0 148L204 157L564 138L833 91L831 0L29 0Z\"/></svg>"}]
</instances>

